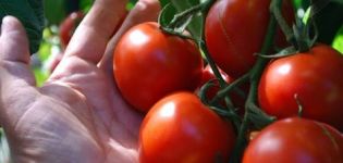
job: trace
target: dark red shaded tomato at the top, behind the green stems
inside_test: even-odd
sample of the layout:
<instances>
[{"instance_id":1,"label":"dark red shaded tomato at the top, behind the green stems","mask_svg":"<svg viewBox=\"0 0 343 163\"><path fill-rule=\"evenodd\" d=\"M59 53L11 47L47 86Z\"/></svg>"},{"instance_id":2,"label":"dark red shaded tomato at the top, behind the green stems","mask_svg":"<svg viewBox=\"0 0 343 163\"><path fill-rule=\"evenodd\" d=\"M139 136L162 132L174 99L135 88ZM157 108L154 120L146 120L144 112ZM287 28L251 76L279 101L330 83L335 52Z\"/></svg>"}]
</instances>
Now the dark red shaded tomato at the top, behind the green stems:
<instances>
[{"instance_id":1,"label":"dark red shaded tomato at the top, behind the green stems","mask_svg":"<svg viewBox=\"0 0 343 163\"><path fill-rule=\"evenodd\" d=\"M206 45L218 66L230 76L236 78L253 67L254 53L260 51L268 28L269 3L270 0L218 0L211 7L205 25ZM293 15L292 9L286 14Z\"/></svg>"}]
</instances>

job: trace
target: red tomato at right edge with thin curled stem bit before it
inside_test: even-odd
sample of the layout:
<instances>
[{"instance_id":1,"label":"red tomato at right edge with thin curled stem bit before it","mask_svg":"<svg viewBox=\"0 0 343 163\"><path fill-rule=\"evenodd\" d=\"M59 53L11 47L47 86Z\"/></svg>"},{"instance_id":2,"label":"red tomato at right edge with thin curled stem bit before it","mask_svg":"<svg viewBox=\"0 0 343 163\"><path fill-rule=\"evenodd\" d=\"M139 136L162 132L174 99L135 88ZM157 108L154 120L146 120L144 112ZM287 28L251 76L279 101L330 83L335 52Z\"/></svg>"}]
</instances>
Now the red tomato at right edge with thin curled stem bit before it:
<instances>
[{"instance_id":1,"label":"red tomato at right edge with thin curled stem bit before it","mask_svg":"<svg viewBox=\"0 0 343 163\"><path fill-rule=\"evenodd\" d=\"M329 46L281 58L265 70L258 88L262 110L279 118L298 113L343 130L343 57Z\"/></svg>"}]
</instances>

